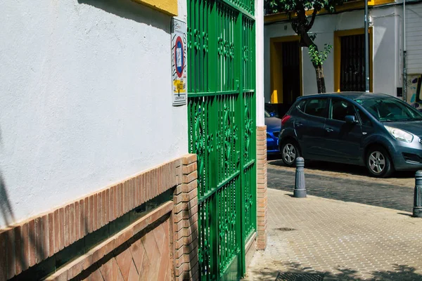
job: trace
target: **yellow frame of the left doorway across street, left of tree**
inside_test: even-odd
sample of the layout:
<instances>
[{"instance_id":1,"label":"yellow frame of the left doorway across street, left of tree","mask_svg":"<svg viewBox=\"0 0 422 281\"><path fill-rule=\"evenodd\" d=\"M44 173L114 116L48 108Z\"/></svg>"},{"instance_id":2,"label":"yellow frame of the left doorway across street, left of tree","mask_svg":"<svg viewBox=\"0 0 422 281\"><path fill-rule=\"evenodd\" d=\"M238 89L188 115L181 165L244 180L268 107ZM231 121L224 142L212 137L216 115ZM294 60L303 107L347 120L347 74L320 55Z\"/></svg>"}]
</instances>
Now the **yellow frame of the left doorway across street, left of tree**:
<instances>
[{"instance_id":1,"label":"yellow frame of the left doorway across street, left of tree","mask_svg":"<svg viewBox=\"0 0 422 281\"><path fill-rule=\"evenodd\" d=\"M281 48L277 48L284 42L300 41L299 35L272 37L269 39L269 61L271 73L271 103L283 103L283 55ZM300 96L303 96L302 83L302 47L299 46L299 83Z\"/></svg>"}]
</instances>

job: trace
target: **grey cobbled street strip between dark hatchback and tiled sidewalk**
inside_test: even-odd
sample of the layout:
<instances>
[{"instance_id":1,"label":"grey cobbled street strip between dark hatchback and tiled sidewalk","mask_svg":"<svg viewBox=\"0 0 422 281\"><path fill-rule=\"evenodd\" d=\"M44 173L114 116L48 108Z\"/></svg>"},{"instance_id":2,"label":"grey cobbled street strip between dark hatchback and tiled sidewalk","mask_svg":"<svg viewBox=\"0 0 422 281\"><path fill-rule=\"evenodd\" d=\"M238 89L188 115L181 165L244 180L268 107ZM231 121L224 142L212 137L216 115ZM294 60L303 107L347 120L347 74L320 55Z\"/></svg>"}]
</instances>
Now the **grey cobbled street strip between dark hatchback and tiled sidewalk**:
<instances>
[{"instance_id":1,"label":"grey cobbled street strip between dark hatchback and tiled sidewalk","mask_svg":"<svg viewBox=\"0 0 422 281\"><path fill-rule=\"evenodd\" d=\"M315 169L318 166L328 170ZM350 170L354 174L347 174ZM413 207L414 172L378 179L366 176L364 167L318 162L305 175L309 195L401 211L411 211ZM269 188L293 191L295 169L282 166L281 161L269 163L267 177Z\"/></svg>"}]
</instances>

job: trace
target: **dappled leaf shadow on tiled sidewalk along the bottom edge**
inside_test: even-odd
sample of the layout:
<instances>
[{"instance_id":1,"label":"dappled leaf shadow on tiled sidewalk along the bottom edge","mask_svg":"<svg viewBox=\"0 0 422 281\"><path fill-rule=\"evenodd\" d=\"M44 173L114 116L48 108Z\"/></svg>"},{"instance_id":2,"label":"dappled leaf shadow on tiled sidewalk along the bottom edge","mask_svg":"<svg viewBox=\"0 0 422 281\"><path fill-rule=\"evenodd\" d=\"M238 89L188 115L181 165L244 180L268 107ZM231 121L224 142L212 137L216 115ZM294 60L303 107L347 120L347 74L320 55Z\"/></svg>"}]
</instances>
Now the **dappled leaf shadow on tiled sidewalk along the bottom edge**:
<instances>
[{"instance_id":1,"label":"dappled leaf shadow on tiled sidewalk along the bottom edge","mask_svg":"<svg viewBox=\"0 0 422 281\"><path fill-rule=\"evenodd\" d=\"M388 280L388 281L402 281L402 280L422 280L422 275L416 273L416 268L407 266L407 265L399 265L393 264L392 270L385 270L385 271L373 271L369 273L372 277L368 275L363 275L359 273L357 270L353 270L351 268L335 268L333 271L335 272L327 272L327 271L319 271L314 270L313 268L303 267L300 263L284 263L288 269L283 272L274 272L273 270L266 270L266 268L259 270L259 271L252 271L251 273L255 276L260 276L260 280L276 280L276 281L284 281L289 280L283 278L284 276L288 275L296 275L295 278L298 278L299 275L303 277L300 280L307 281L307 280L316 280L315 277L319 275L324 275L324 281L333 281L333 280ZM290 274L286 274L290 273ZM279 276L276 278L274 276ZM276 278L276 279L275 279ZM298 279L292 279L298 280Z\"/></svg>"}]
</instances>

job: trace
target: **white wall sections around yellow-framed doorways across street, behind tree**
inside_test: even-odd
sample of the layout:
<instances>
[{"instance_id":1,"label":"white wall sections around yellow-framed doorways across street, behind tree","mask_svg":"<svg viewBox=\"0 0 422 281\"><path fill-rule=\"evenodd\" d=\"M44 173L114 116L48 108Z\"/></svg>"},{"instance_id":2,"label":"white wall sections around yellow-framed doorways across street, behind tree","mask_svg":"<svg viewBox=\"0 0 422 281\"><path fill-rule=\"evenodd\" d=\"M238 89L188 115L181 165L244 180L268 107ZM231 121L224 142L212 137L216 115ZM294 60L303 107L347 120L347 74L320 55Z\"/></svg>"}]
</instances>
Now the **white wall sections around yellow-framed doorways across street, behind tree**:
<instances>
[{"instance_id":1,"label":"white wall sections around yellow-framed doorways across street, behind tree","mask_svg":"<svg viewBox=\"0 0 422 281\"><path fill-rule=\"evenodd\" d=\"M370 10L373 25L373 91L396 95L396 87L401 86L399 72L400 39L399 39L398 7L373 8ZM362 19L362 20L359 20ZM350 11L335 15L318 16L309 32L316 33L315 43L319 49L324 44L334 44L334 32L337 30L353 30L364 27L364 11ZM264 93L265 102L271 98L271 75L269 40L271 37L295 35L290 22L279 22L264 27ZM303 94L316 93L315 70L309 60L308 49L302 48L302 81ZM326 91L334 91L334 55L333 50L324 62Z\"/></svg>"}]
</instances>

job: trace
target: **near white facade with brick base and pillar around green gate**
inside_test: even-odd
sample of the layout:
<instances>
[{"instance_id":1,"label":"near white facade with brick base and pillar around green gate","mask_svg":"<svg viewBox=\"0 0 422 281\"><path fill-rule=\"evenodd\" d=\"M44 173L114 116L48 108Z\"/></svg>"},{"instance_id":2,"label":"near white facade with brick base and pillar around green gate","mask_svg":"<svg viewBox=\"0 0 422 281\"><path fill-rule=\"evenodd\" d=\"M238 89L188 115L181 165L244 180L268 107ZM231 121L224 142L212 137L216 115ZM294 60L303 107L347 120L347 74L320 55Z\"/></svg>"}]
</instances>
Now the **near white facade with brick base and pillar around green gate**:
<instances>
[{"instance_id":1,"label":"near white facade with brick base and pillar around green gate","mask_svg":"<svg viewBox=\"0 0 422 281\"><path fill-rule=\"evenodd\" d=\"M189 2L1 2L0 281L205 275L203 157L191 143L193 107L180 98L186 60L197 60ZM257 131L250 216L257 223L241 251L246 263L267 242L264 67L263 52L255 53L256 42L263 48L264 15L261 0L251 3L248 55L261 63L253 65L256 76L249 70L257 112L250 115ZM188 39L173 40L174 21L187 25L181 37ZM233 155L240 153L236 146Z\"/></svg>"}]
</instances>

